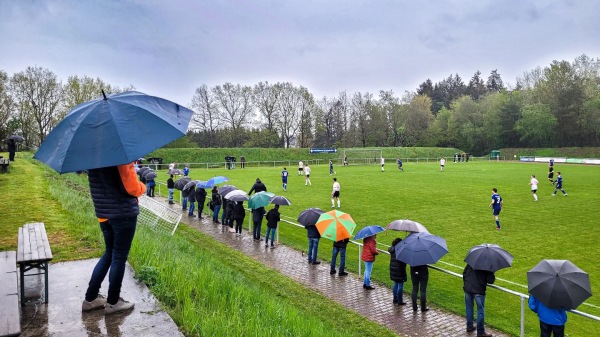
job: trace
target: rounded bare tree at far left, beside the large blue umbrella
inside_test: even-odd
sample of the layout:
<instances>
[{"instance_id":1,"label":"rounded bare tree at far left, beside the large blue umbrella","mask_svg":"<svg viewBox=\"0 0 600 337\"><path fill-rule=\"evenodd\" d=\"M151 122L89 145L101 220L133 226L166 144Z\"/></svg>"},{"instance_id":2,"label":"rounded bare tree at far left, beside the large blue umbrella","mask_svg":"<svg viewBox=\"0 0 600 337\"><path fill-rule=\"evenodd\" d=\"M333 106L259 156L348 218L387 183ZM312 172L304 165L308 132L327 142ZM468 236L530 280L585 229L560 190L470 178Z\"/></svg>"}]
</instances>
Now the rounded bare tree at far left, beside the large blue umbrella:
<instances>
[{"instance_id":1,"label":"rounded bare tree at far left, beside the large blue umbrella","mask_svg":"<svg viewBox=\"0 0 600 337\"><path fill-rule=\"evenodd\" d=\"M53 72L41 67L27 67L10 83L24 137L35 136L39 143L32 145L39 145L57 121L62 83Z\"/></svg>"}]
</instances>

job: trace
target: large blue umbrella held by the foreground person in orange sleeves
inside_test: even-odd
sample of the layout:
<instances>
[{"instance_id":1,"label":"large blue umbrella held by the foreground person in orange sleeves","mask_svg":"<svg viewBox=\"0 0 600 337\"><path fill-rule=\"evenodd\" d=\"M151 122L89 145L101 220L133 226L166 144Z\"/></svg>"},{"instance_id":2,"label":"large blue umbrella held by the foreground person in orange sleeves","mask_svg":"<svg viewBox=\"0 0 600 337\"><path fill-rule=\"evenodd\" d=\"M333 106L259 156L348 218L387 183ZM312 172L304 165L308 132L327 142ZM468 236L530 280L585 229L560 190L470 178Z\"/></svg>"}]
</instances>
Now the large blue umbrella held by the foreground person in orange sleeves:
<instances>
[{"instance_id":1,"label":"large blue umbrella held by the foreground person in orange sleeves","mask_svg":"<svg viewBox=\"0 0 600 337\"><path fill-rule=\"evenodd\" d=\"M59 173L131 163L185 135L192 111L129 91L74 107L34 158Z\"/></svg>"}]
</instances>

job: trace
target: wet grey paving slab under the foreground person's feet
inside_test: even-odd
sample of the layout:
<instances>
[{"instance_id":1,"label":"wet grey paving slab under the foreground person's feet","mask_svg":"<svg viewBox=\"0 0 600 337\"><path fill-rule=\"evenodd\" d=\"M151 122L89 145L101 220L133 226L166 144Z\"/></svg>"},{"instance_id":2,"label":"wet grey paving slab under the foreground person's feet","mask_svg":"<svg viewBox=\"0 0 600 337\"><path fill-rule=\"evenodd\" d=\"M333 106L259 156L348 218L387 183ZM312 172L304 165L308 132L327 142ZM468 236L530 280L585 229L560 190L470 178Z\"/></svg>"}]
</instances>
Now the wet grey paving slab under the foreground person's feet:
<instances>
[{"instance_id":1,"label":"wet grey paving slab under the foreground person's feet","mask_svg":"<svg viewBox=\"0 0 600 337\"><path fill-rule=\"evenodd\" d=\"M42 303L43 277L25 277L26 305L21 308L21 336L183 336L148 288L127 265L121 296L133 310L104 315L81 312L87 283L98 259L50 264L48 304ZM106 295L108 277L100 292Z\"/></svg>"}]
</instances>

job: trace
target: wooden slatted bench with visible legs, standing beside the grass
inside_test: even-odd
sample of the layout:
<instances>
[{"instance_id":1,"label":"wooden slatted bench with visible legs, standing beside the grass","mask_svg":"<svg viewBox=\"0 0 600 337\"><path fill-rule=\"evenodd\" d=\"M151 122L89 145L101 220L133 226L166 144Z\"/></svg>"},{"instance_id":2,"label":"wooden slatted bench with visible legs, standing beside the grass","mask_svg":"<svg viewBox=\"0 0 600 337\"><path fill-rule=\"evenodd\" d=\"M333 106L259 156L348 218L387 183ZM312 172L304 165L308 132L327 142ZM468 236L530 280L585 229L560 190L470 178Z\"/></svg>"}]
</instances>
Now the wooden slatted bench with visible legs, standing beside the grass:
<instances>
[{"instance_id":1,"label":"wooden slatted bench with visible legs, standing beside the grass","mask_svg":"<svg viewBox=\"0 0 600 337\"><path fill-rule=\"evenodd\" d=\"M41 222L29 223L19 227L17 246L17 264L21 284L21 305L25 305L25 276L44 275L44 303L48 303L48 262L52 260L52 251L46 228ZM38 273L27 274L32 269Z\"/></svg>"}]
</instances>

